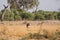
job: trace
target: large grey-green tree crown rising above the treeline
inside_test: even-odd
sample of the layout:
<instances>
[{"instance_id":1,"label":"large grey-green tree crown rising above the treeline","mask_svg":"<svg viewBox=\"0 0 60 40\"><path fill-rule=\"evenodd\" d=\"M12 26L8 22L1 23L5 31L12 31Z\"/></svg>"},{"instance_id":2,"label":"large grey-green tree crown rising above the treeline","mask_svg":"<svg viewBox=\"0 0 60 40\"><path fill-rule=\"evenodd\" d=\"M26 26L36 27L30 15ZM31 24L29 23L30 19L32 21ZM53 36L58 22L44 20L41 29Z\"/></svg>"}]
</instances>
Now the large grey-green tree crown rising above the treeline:
<instances>
[{"instance_id":1,"label":"large grey-green tree crown rising above the treeline","mask_svg":"<svg viewBox=\"0 0 60 40\"><path fill-rule=\"evenodd\" d=\"M20 9L23 7L24 8L33 8L36 6L36 3L38 0L8 0L8 3L10 5L10 8L16 8Z\"/></svg>"}]
</instances>

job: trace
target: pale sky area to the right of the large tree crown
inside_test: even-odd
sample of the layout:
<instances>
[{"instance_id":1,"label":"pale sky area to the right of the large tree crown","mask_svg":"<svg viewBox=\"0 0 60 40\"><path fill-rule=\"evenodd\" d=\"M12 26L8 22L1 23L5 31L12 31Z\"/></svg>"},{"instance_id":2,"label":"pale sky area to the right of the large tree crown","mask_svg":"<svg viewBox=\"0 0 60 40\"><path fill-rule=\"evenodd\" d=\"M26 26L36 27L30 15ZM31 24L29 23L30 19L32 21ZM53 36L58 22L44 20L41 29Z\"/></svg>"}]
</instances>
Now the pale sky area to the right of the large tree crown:
<instances>
[{"instance_id":1,"label":"pale sky area to the right of the large tree crown","mask_svg":"<svg viewBox=\"0 0 60 40\"><path fill-rule=\"evenodd\" d=\"M57 11L60 8L60 0L40 0L39 8L42 10Z\"/></svg>"}]
</instances>

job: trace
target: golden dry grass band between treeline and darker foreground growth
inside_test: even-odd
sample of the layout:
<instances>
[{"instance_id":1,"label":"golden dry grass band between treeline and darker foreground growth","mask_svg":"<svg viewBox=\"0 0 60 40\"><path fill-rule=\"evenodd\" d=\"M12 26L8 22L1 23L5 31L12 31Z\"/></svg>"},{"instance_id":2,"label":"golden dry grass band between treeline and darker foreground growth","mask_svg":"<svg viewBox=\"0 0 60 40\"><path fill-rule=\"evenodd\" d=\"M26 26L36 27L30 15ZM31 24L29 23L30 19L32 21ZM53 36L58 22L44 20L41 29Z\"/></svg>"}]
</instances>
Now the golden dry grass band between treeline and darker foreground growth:
<instances>
[{"instance_id":1,"label":"golden dry grass band between treeline and darker foreground growth","mask_svg":"<svg viewBox=\"0 0 60 40\"><path fill-rule=\"evenodd\" d=\"M24 21L3 21L0 22L0 34L5 33L5 36L21 37L28 33L40 32L43 34L43 30L48 31L49 35L53 34L56 30L60 30L59 21L27 21L30 26L27 28Z\"/></svg>"}]
</instances>

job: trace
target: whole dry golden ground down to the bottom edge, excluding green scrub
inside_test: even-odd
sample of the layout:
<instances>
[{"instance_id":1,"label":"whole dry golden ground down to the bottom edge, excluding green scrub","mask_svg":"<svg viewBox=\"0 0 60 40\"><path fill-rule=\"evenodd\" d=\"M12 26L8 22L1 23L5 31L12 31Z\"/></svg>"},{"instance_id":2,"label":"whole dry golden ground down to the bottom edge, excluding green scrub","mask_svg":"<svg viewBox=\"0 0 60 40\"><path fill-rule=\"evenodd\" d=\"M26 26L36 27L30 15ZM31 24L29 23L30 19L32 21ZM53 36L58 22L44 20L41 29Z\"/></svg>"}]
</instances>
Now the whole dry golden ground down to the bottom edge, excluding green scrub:
<instances>
[{"instance_id":1,"label":"whole dry golden ground down to the bottom edge, excluding green scrub","mask_svg":"<svg viewBox=\"0 0 60 40\"><path fill-rule=\"evenodd\" d=\"M0 22L0 40L36 40L34 38L24 39L28 34L39 33L53 36L56 31L60 32L60 21L3 21ZM23 38L23 39L22 39ZM42 38L40 40L45 40ZM48 39L46 39L48 40Z\"/></svg>"}]
</instances>

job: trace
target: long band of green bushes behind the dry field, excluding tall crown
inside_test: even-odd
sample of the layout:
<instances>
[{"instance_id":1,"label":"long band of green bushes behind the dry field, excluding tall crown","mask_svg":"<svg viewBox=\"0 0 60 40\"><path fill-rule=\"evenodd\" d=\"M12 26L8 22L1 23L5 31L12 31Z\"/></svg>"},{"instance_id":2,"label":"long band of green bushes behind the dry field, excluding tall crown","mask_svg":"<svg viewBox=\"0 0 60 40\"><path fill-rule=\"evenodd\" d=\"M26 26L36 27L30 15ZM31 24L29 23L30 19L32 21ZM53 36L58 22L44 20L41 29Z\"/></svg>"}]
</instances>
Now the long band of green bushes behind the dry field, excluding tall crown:
<instances>
[{"instance_id":1,"label":"long band of green bushes behind the dry field, excluding tall crown","mask_svg":"<svg viewBox=\"0 0 60 40\"><path fill-rule=\"evenodd\" d=\"M3 18L3 13L4 18ZM20 20L60 20L60 12L55 11L42 11L27 12L25 10L5 10L0 11L1 21L20 21Z\"/></svg>"}]
</instances>

